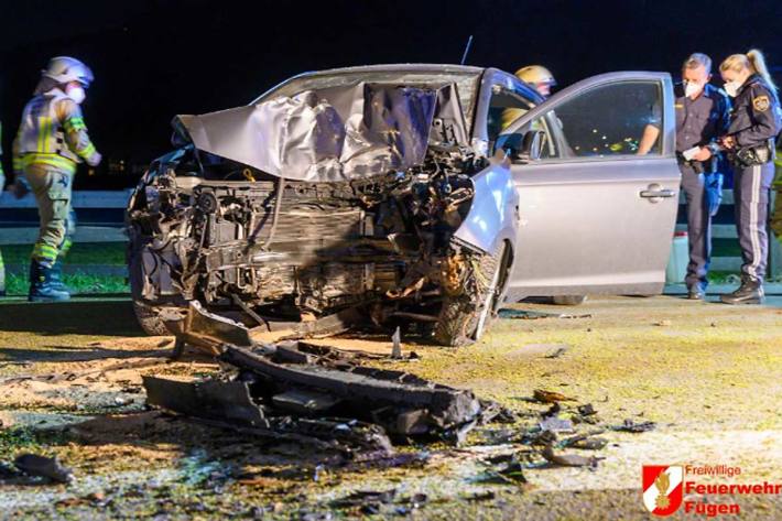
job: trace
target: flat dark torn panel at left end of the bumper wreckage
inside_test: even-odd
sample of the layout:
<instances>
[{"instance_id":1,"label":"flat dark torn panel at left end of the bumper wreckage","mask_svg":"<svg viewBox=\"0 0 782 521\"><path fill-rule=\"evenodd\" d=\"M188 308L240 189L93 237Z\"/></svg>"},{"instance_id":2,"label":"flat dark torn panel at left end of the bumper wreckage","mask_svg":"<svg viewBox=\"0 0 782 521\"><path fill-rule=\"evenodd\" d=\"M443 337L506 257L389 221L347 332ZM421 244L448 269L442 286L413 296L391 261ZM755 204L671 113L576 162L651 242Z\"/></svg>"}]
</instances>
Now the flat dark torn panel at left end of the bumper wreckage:
<instances>
[{"instance_id":1,"label":"flat dark torn panel at left end of the bumper wreckage","mask_svg":"<svg viewBox=\"0 0 782 521\"><path fill-rule=\"evenodd\" d=\"M188 416L269 427L246 382L183 382L150 376L144 376L143 382L150 405Z\"/></svg>"}]
</instances>

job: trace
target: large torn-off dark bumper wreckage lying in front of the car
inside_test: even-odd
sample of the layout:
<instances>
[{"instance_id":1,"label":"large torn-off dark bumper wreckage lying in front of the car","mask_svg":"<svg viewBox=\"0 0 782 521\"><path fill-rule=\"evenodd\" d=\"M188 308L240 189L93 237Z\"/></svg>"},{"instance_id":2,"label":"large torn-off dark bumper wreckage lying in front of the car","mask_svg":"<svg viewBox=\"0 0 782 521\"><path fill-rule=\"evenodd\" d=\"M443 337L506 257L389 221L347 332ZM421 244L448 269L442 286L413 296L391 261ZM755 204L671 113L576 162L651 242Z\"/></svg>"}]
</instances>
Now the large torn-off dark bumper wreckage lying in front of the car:
<instances>
[{"instance_id":1,"label":"large torn-off dark bumper wreckage lying in front of the car","mask_svg":"<svg viewBox=\"0 0 782 521\"><path fill-rule=\"evenodd\" d=\"M169 412L355 460L390 457L392 438L460 444L503 412L470 391L362 366L359 354L303 340L257 344L242 325L191 311L170 325L177 341L217 354L225 370L200 381L144 377L148 403Z\"/></svg>"}]
</instances>

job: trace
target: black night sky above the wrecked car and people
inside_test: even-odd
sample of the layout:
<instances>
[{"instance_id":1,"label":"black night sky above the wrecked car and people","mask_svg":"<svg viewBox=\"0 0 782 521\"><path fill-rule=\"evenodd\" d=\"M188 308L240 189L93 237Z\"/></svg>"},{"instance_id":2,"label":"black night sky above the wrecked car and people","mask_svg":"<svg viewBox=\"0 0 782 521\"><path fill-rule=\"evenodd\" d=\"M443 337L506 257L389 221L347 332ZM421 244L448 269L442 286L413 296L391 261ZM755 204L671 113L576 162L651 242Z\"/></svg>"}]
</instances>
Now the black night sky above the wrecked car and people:
<instances>
[{"instance_id":1,"label":"black night sky above the wrecked car and people","mask_svg":"<svg viewBox=\"0 0 782 521\"><path fill-rule=\"evenodd\" d=\"M107 156L169 149L175 113L251 100L296 73L370 63L547 65L566 85L607 70L676 72L758 46L782 65L782 1L0 0L3 148L39 70L69 54L96 74L85 113ZM69 9L63 6L70 4ZM10 166L10 158L4 159Z\"/></svg>"}]
</instances>

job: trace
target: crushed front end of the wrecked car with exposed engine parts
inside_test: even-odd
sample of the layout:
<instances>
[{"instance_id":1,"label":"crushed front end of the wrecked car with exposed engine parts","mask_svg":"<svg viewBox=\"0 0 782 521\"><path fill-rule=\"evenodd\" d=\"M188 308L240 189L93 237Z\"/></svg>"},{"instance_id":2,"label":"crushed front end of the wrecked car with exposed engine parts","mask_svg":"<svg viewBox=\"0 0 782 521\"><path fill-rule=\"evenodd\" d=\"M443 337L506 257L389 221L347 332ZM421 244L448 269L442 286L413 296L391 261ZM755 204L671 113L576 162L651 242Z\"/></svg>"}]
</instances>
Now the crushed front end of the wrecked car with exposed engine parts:
<instances>
[{"instance_id":1,"label":"crushed front end of the wrecked car with exposed engine parts","mask_svg":"<svg viewBox=\"0 0 782 521\"><path fill-rule=\"evenodd\" d=\"M358 83L174 120L128 208L137 314L198 301L248 325L345 310L444 345L501 300L515 192L468 145L453 84ZM496 229L489 229L496 228Z\"/></svg>"}]
</instances>

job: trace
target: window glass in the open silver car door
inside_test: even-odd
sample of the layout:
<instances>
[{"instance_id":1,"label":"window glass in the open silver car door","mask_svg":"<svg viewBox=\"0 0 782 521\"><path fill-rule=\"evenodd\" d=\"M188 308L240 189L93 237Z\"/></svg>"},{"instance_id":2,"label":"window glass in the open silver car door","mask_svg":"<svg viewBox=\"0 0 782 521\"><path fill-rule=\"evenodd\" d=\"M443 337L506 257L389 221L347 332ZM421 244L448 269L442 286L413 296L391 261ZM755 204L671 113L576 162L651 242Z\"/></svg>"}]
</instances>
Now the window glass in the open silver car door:
<instances>
[{"instance_id":1,"label":"window glass in the open silver car door","mask_svg":"<svg viewBox=\"0 0 782 521\"><path fill-rule=\"evenodd\" d=\"M633 155L644 130L661 128L662 105L662 89L654 82L601 85L556 105L532 128L552 119L558 122L564 143L550 158ZM661 142L656 140L649 155L662 153Z\"/></svg>"}]
</instances>

